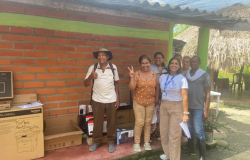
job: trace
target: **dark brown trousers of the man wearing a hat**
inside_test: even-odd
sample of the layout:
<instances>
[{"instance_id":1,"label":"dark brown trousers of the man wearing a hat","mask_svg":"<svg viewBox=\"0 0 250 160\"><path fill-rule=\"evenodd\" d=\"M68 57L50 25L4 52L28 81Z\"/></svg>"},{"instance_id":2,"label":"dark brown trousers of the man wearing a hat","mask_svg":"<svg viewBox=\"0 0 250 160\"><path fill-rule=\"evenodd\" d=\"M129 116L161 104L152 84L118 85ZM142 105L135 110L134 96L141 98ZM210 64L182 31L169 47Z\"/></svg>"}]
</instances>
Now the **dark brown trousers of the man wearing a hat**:
<instances>
[{"instance_id":1,"label":"dark brown trousers of the man wearing a hat","mask_svg":"<svg viewBox=\"0 0 250 160\"><path fill-rule=\"evenodd\" d=\"M108 144L115 144L116 139L116 107L113 103L99 103L92 100L92 110L94 116L93 142L101 144L103 135L104 113L106 112L107 119L107 137Z\"/></svg>"}]
</instances>

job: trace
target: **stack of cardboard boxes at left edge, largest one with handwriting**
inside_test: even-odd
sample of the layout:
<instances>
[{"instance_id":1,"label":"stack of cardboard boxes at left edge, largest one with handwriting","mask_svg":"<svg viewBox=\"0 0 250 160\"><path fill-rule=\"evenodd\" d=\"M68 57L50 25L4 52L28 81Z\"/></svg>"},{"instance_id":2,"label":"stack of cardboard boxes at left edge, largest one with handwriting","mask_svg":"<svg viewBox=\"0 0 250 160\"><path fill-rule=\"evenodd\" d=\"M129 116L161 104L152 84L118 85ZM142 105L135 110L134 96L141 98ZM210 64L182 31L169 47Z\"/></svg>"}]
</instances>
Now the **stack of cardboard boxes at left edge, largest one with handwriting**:
<instances>
[{"instance_id":1,"label":"stack of cardboard boxes at left edge, largest one with handwriting","mask_svg":"<svg viewBox=\"0 0 250 160\"><path fill-rule=\"evenodd\" d=\"M42 106L22 109L36 102L36 94L13 96L12 72L0 72L1 159L26 160L44 156Z\"/></svg>"}]
</instances>

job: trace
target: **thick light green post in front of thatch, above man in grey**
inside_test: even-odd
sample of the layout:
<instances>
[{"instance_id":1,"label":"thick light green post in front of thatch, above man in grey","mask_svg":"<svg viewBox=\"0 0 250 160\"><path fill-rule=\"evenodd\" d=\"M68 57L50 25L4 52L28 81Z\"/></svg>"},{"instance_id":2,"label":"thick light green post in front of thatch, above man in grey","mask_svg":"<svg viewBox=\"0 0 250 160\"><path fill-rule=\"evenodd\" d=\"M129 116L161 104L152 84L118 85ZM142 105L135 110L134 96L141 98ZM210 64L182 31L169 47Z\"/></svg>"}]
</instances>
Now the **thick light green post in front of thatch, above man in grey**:
<instances>
[{"instance_id":1,"label":"thick light green post in front of thatch, above man in grey","mask_svg":"<svg viewBox=\"0 0 250 160\"><path fill-rule=\"evenodd\" d=\"M210 28L207 27L201 27L199 29L197 56L199 56L201 59L200 68L204 71L207 71L209 32Z\"/></svg>"}]
</instances>

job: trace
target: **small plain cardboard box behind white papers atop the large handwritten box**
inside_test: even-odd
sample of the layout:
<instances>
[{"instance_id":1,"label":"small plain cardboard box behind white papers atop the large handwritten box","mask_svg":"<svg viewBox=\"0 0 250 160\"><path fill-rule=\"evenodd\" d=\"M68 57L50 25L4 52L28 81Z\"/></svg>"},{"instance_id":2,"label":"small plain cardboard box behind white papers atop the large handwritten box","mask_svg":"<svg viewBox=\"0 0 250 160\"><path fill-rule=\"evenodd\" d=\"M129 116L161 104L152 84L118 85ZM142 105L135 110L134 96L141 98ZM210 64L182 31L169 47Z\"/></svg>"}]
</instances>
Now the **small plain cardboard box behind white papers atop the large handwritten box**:
<instances>
[{"instance_id":1,"label":"small plain cardboard box behind white papers atop the large handwritten box","mask_svg":"<svg viewBox=\"0 0 250 160\"><path fill-rule=\"evenodd\" d=\"M37 102L37 94L30 93L30 94L15 94L12 103L13 104L22 104L22 103L30 103L30 102Z\"/></svg>"}]
</instances>

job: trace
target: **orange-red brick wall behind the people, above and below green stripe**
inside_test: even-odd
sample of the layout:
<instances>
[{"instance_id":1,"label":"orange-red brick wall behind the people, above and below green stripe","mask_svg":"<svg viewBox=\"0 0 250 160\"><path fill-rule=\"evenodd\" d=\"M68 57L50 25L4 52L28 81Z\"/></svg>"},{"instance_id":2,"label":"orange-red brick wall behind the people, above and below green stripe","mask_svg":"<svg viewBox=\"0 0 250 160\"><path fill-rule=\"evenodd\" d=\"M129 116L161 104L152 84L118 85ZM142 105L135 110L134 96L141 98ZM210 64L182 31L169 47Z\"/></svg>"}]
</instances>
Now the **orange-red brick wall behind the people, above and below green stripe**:
<instances>
[{"instance_id":1,"label":"orange-red brick wall behind the people, above and below green stripe","mask_svg":"<svg viewBox=\"0 0 250 160\"><path fill-rule=\"evenodd\" d=\"M20 5L1 5L1 10L42 16L54 15L59 18L64 15ZM68 18L74 17L72 14L65 14ZM76 17L82 19L79 15ZM84 18L88 21L96 18L91 19L91 16ZM103 23L114 22L105 16L101 19ZM138 21L123 19L117 20L115 24L133 22L134 26L140 27L142 20ZM161 26L159 22L148 23ZM111 50L114 55L111 62L118 66L119 83L127 85L127 67L133 65L138 69L138 58L142 54L152 56L156 51L167 54L167 43L157 39L0 26L0 70L14 72L15 94L38 94L38 99L44 103L45 117L72 114L78 112L78 105L89 103L91 88L84 87L83 80L88 67L96 63L93 51L100 47Z\"/></svg>"}]
</instances>

